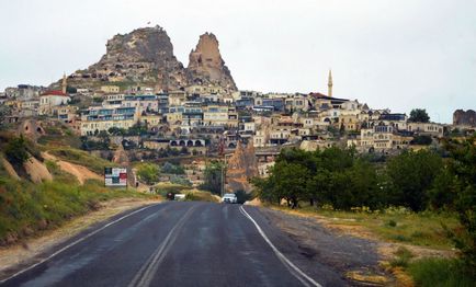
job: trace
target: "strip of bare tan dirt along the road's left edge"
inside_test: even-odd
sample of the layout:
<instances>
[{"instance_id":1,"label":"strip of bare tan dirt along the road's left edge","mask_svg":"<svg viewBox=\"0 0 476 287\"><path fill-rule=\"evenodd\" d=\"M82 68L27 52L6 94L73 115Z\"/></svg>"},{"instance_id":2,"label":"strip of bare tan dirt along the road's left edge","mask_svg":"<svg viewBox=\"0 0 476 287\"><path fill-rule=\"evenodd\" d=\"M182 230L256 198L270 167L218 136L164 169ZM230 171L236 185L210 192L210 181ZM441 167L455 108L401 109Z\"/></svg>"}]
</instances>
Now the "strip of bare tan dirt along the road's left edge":
<instances>
[{"instance_id":1,"label":"strip of bare tan dirt along the road's left edge","mask_svg":"<svg viewBox=\"0 0 476 287\"><path fill-rule=\"evenodd\" d=\"M10 268L34 261L36 256L97 222L106 220L128 209L154 203L157 203L157 200L141 198L121 198L105 202L99 210L72 219L56 230L46 231L38 238L30 239L21 244L0 248L0 278L4 277Z\"/></svg>"}]
</instances>

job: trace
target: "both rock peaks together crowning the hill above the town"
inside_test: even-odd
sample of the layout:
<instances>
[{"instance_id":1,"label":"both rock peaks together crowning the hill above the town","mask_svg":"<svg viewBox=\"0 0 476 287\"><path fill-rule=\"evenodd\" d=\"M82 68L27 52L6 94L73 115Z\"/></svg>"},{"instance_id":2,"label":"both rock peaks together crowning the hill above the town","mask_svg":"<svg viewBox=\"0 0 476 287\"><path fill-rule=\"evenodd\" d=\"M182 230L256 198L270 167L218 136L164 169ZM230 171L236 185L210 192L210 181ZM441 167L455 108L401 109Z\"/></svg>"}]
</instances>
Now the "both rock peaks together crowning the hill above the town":
<instances>
[{"instance_id":1,"label":"both rock peaks together crowning the hill above the town","mask_svg":"<svg viewBox=\"0 0 476 287\"><path fill-rule=\"evenodd\" d=\"M173 55L172 43L162 27L137 28L109 39L105 55L88 69L70 74L68 84L75 88L115 84L123 89L146 85L169 91L193 83L213 83L236 90L213 34L201 36L190 59L189 68L184 68ZM59 85L60 81L53 84Z\"/></svg>"}]
</instances>

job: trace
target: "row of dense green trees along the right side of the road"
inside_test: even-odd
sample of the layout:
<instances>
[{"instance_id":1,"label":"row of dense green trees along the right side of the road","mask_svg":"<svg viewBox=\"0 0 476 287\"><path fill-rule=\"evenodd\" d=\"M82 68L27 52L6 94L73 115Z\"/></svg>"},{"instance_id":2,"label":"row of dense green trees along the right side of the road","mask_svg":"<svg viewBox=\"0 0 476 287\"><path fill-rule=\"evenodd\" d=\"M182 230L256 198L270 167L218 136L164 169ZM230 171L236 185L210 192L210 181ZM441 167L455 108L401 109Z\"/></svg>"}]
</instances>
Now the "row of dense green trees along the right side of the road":
<instances>
[{"instance_id":1,"label":"row of dense green trees along the right side of the road","mask_svg":"<svg viewBox=\"0 0 476 287\"><path fill-rule=\"evenodd\" d=\"M292 208L308 202L340 210L404 206L417 213L455 213L463 230L450 236L468 266L476 267L475 135L445 139L438 152L406 150L377 163L352 148L284 149L269 177L252 183L261 200L285 200Z\"/></svg>"}]
</instances>

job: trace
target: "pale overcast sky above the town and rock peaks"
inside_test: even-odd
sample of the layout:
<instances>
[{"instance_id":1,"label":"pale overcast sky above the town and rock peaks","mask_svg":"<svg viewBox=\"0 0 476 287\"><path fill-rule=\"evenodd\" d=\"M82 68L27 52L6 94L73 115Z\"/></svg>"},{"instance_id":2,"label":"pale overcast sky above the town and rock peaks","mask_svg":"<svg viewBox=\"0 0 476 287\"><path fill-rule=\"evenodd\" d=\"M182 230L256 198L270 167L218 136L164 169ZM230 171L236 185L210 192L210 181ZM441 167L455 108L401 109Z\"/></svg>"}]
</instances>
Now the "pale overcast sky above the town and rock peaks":
<instances>
[{"instance_id":1,"label":"pale overcast sky above the town and rock peaks","mask_svg":"<svg viewBox=\"0 0 476 287\"><path fill-rule=\"evenodd\" d=\"M476 0L0 0L0 90L98 61L113 35L160 25L188 65L213 32L239 89L324 92L371 107L476 108Z\"/></svg>"}]
</instances>

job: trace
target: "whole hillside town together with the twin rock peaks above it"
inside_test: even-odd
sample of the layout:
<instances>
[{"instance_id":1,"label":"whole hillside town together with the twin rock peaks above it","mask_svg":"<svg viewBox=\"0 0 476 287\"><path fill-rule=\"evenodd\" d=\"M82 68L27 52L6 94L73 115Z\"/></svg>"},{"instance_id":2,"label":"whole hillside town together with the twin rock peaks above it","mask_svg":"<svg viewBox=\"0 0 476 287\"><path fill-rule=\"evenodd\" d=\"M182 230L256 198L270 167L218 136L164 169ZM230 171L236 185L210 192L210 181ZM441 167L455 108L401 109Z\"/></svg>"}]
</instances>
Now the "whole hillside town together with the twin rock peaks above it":
<instances>
[{"instance_id":1,"label":"whole hillside town together with the twin rock peaks above it","mask_svg":"<svg viewBox=\"0 0 476 287\"><path fill-rule=\"evenodd\" d=\"M352 148L385 161L404 150L435 150L445 136L465 137L476 127L472 110L455 111L449 125L432 122L424 108L407 115L335 94L331 70L316 83L326 82L327 91L239 90L218 46L213 33L201 35L184 67L160 26L115 35L87 69L48 87L7 88L0 93L2 128L37 140L64 136L55 127L65 127L80 139L76 148L125 159L118 163L133 171L133 185L139 184L132 168L137 162L173 161L185 170L181 179L196 187L211 161L223 162L226 171L216 175L222 193L250 193L250 180L268 176L285 147ZM160 182L169 181L162 174Z\"/></svg>"}]
</instances>

